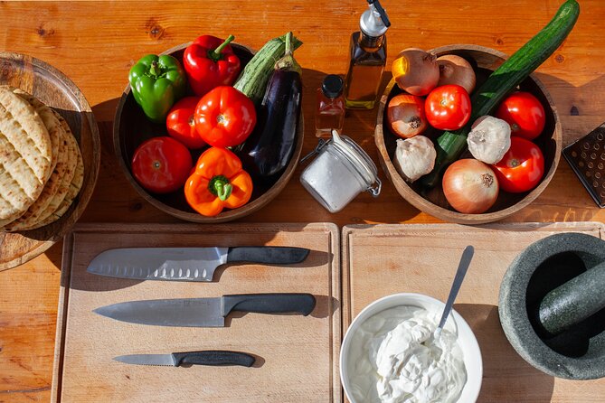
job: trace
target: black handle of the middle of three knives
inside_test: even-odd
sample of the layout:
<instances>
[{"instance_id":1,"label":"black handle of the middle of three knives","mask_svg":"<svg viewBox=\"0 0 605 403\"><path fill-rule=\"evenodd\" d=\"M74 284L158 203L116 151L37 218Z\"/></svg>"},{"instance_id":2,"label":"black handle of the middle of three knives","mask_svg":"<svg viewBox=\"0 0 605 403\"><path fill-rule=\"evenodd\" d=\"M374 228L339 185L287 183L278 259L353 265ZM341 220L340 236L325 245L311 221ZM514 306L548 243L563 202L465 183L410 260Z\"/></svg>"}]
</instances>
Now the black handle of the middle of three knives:
<instances>
[{"instance_id":1,"label":"black handle of the middle of three knives","mask_svg":"<svg viewBox=\"0 0 605 403\"><path fill-rule=\"evenodd\" d=\"M303 314L315 308L315 296L310 294L240 294L222 296L222 315L232 311L256 314Z\"/></svg>"}]
</instances>

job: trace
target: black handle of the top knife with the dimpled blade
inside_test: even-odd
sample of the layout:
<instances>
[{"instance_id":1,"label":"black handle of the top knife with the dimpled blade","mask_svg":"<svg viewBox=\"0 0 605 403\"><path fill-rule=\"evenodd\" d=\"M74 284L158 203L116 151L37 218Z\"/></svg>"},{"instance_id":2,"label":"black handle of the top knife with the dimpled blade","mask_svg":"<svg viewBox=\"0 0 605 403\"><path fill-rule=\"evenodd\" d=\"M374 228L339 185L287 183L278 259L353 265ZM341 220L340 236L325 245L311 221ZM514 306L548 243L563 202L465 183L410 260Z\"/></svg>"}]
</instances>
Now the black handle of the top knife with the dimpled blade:
<instances>
[{"instance_id":1,"label":"black handle of the top knife with the dimpled blade","mask_svg":"<svg viewBox=\"0 0 605 403\"><path fill-rule=\"evenodd\" d=\"M293 247L236 247L227 250L227 263L250 262L266 265L291 265L308 256L309 249Z\"/></svg>"}]
</instances>

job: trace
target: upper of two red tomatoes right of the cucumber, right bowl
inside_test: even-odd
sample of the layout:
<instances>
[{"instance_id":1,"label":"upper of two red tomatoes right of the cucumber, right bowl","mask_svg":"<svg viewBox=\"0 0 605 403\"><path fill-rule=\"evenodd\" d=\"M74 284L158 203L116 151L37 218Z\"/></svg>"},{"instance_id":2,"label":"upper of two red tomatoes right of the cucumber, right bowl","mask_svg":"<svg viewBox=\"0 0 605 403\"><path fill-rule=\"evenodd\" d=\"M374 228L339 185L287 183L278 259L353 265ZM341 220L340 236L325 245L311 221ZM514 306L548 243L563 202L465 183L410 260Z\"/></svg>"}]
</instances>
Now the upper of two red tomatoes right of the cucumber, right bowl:
<instances>
[{"instance_id":1,"label":"upper of two red tomatoes right of the cucumber, right bowl","mask_svg":"<svg viewBox=\"0 0 605 403\"><path fill-rule=\"evenodd\" d=\"M544 130L546 113L542 103L529 92L515 92L498 107L496 117L510 125L511 136L534 140Z\"/></svg>"}]
</instances>

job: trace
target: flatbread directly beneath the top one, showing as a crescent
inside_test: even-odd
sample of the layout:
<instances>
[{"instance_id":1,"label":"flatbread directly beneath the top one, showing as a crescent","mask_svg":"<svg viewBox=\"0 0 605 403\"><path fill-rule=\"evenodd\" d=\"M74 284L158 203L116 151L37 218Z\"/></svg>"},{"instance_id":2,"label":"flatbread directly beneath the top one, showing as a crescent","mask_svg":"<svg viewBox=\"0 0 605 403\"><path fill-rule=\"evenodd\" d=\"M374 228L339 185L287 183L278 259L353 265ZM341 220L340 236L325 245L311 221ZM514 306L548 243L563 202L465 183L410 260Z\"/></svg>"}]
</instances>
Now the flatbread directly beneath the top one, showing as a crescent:
<instances>
[{"instance_id":1,"label":"flatbread directly beneath the top one, showing as a crescent","mask_svg":"<svg viewBox=\"0 0 605 403\"><path fill-rule=\"evenodd\" d=\"M77 158L75 152L70 152L68 147L68 134L61 125L61 122L55 117L51 108L48 108L41 101L34 98L32 95L26 94L19 89L15 89L14 93L24 98L38 112L43 119L44 126L48 130L52 139L53 148L57 149L56 161L54 161L54 169L51 176L44 185L43 192L38 199L33 201L33 204L24 212L18 219L5 225L5 230L25 230L32 227L33 224L40 220L43 211L49 206L54 195L58 192L63 177L66 173L73 173ZM70 179L71 181L71 179Z\"/></svg>"}]
</instances>

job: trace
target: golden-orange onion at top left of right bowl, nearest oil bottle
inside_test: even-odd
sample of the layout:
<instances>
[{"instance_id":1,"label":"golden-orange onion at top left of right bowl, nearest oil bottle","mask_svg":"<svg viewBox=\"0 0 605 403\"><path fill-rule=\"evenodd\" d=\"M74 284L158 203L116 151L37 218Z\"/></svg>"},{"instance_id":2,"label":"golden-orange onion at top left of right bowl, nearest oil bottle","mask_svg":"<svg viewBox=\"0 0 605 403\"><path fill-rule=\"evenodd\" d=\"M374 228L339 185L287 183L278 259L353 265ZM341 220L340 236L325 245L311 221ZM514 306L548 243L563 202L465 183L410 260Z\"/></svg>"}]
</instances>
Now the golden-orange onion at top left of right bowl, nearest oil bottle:
<instances>
[{"instance_id":1,"label":"golden-orange onion at top left of right bowl, nearest oil bottle","mask_svg":"<svg viewBox=\"0 0 605 403\"><path fill-rule=\"evenodd\" d=\"M409 48L399 53L392 62L391 70L399 88L411 95L427 95L437 87L440 77L435 54L418 48Z\"/></svg>"}]
</instances>

